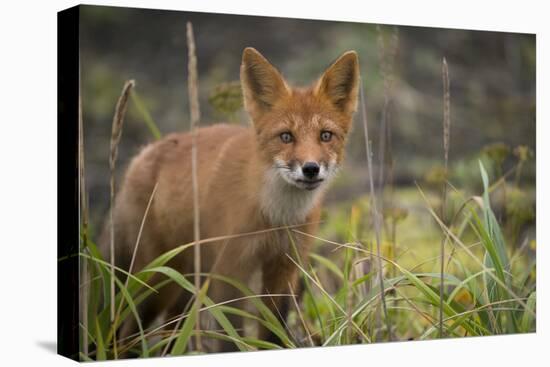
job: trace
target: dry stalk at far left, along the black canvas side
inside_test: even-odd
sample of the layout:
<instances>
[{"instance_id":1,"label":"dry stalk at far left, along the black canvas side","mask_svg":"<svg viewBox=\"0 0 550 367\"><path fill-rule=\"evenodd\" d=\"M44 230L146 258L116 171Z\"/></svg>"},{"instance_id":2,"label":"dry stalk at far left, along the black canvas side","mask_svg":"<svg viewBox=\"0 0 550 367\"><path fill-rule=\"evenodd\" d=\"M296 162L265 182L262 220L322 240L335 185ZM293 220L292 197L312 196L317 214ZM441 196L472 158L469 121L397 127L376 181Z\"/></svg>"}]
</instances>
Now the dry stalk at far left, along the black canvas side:
<instances>
[{"instance_id":1,"label":"dry stalk at far left, along the black canvas side","mask_svg":"<svg viewBox=\"0 0 550 367\"><path fill-rule=\"evenodd\" d=\"M88 247L88 199L86 197L86 175L84 168L84 121L82 117L82 94L78 93L78 167L79 167L79 197L82 230L82 250L85 251ZM88 261L82 259L82 294L80 299L82 309L82 325L84 333L82 333L82 352L88 355Z\"/></svg>"}]
</instances>

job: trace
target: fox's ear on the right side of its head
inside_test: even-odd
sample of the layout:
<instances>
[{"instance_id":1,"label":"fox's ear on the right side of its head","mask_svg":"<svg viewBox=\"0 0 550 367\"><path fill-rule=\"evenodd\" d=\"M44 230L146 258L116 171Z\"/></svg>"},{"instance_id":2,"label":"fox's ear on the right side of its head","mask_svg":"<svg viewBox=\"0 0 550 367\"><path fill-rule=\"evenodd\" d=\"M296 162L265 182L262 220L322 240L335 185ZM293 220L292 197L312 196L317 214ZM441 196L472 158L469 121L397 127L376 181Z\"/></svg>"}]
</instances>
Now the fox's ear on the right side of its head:
<instances>
[{"instance_id":1,"label":"fox's ear on the right side of its head","mask_svg":"<svg viewBox=\"0 0 550 367\"><path fill-rule=\"evenodd\" d=\"M317 82L315 93L328 99L340 112L355 112L359 93L357 53L348 51L332 63Z\"/></svg>"}]
</instances>

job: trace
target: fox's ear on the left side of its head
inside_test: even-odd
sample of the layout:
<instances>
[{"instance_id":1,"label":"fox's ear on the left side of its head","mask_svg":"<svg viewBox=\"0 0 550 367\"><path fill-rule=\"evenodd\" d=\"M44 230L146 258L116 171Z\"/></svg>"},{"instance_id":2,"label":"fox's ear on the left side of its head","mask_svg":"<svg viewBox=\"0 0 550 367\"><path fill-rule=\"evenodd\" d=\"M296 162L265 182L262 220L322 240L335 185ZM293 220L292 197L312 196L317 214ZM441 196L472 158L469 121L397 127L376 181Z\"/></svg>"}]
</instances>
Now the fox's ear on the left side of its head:
<instances>
[{"instance_id":1,"label":"fox's ear on the left side of its head","mask_svg":"<svg viewBox=\"0 0 550 367\"><path fill-rule=\"evenodd\" d=\"M290 89L279 71L252 47L243 51L241 85L244 105L252 119L290 95Z\"/></svg>"}]
</instances>

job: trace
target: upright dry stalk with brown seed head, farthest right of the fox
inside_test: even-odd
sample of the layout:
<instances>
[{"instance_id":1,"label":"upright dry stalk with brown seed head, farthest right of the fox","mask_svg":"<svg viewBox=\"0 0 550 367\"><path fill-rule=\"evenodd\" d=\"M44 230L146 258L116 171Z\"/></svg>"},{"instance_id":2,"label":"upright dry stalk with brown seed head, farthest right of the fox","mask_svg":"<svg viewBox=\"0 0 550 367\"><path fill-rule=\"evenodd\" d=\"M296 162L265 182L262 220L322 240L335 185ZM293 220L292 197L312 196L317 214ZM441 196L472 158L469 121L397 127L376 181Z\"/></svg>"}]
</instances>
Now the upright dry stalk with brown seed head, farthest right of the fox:
<instances>
[{"instance_id":1,"label":"upright dry stalk with brown seed head, farthest right of the fox","mask_svg":"<svg viewBox=\"0 0 550 367\"><path fill-rule=\"evenodd\" d=\"M444 150L444 164L445 164L445 177L448 174L448 162L449 162L449 145L451 139L451 92L449 81L449 67L447 60L443 58L441 66L441 74L443 78L443 150ZM443 182L443 193L441 200L441 218L443 222L446 222L446 207L447 207L447 180ZM449 235L445 234L441 241L441 269L440 269L440 284L439 284L439 337L444 336L443 331L443 296L445 291L445 245L449 239Z\"/></svg>"}]
</instances>

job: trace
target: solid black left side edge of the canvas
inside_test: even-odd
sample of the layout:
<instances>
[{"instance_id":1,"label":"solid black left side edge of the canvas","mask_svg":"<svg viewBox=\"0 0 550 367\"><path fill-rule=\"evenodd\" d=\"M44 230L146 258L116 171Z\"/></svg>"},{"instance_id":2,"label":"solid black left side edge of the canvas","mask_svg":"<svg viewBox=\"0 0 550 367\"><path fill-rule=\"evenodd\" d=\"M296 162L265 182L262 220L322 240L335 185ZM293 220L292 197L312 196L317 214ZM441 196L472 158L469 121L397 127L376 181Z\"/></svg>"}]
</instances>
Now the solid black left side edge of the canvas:
<instances>
[{"instance_id":1,"label":"solid black left side edge of the canvas","mask_svg":"<svg viewBox=\"0 0 550 367\"><path fill-rule=\"evenodd\" d=\"M57 14L57 352L79 360L79 7Z\"/></svg>"}]
</instances>

